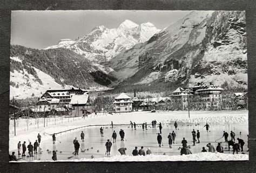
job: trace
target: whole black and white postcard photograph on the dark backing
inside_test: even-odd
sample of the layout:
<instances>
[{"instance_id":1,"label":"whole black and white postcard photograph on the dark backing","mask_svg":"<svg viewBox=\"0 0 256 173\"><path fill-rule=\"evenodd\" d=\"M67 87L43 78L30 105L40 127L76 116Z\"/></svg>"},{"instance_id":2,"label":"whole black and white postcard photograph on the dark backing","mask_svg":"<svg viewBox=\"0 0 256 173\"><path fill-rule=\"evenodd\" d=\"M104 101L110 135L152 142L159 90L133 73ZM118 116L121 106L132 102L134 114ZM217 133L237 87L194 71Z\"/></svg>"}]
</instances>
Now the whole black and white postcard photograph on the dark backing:
<instances>
[{"instance_id":1,"label":"whole black and white postcard photograph on the dark backing","mask_svg":"<svg viewBox=\"0 0 256 173\"><path fill-rule=\"evenodd\" d=\"M247 161L245 11L11 11L10 162Z\"/></svg>"}]
</instances>

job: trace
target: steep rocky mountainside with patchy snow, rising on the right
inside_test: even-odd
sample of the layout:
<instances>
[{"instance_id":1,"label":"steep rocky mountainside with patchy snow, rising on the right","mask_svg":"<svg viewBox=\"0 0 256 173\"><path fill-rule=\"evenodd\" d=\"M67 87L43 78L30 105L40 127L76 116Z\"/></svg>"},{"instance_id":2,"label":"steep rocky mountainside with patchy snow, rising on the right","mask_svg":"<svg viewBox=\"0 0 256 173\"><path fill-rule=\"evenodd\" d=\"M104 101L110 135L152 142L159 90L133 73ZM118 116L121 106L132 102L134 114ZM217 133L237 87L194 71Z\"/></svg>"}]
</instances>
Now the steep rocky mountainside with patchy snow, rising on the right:
<instances>
[{"instance_id":1,"label":"steep rocky mountainside with patchy snow, rising on the right","mask_svg":"<svg viewBox=\"0 0 256 173\"><path fill-rule=\"evenodd\" d=\"M193 11L107 66L127 78L124 85L212 82L247 88L245 12Z\"/></svg>"}]
</instances>

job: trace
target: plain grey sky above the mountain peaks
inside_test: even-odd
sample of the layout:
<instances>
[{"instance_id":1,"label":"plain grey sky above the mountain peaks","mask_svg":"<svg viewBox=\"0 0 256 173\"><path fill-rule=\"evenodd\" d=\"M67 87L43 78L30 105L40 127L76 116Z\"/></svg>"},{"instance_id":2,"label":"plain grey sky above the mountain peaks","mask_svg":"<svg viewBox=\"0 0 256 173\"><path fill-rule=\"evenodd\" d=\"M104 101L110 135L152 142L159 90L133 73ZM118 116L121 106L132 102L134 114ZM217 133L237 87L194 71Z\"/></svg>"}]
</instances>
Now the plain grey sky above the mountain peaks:
<instances>
[{"instance_id":1,"label":"plain grey sky above the mountain peaks","mask_svg":"<svg viewBox=\"0 0 256 173\"><path fill-rule=\"evenodd\" d=\"M57 45L60 39L75 40L95 26L117 28L129 19L137 24L154 24L163 29L190 11L12 11L11 44L31 48Z\"/></svg>"}]
</instances>

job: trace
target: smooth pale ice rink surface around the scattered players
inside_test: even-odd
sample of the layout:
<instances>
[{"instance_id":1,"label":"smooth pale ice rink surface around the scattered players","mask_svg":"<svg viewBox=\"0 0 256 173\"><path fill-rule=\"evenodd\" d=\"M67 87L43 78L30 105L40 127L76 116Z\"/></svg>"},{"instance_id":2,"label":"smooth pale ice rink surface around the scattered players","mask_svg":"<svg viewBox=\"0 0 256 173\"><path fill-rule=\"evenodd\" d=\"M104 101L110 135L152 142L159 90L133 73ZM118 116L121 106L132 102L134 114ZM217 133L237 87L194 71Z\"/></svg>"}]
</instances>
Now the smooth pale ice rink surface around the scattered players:
<instances>
[{"instance_id":1,"label":"smooth pale ice rink surface around the scattered players","mask_svg":"<svg viewBox=\"0 0 256 173\"><path fill-rule=\"evenodd\" d=\"M158 124L158 123L157 123ZM126 126L114 126L114 128L110 128L110 126L104 126L104 136L100 137L100 127L87 127L84 129L80 129L79 131L74 131L68 134L62 134L62 135L56 135L56 139L59 141L56 141L56 144L52 144L52 140L45 140L41 143L40 147L42 148L42 154L35 154L34 157L24 157L19 161L34 161L34 160L52 160L52 153L48 153L46 150L49 149L52 150L58 150L57 152L57 159L58 160L72 160L72 159L80 159L80 158L91 158L91 155L94 155L95 158L99 157L105 157L105 143L107 139L111 140L111 136L113 131L116 131L117 133L117 142L113 143L112 140L112 147L111 147L111 155L120 155L118 152L118 149L121 147L126 147L126 155L132 155L132 150L135 146L138 147L138 150L141 146L144 147L144 150L146 152L147 147L150 147L150 150L152 151L152 154L154 155L163 155L164 153L166 155L179 155L180 150L178 149L181 147L181 140L183 138L186 138L187 145L190 145L192 154L194 153L200 153L202 150L202 147L205 147L205 149L208 150L206 147L207 143L211 142L214 148L217 147L218 142L223 142L222 146L224 147L224 153L226 154L232 154L233 152L228 152L227 144L224 143L224 138L218 140L215 142L215 140L221 138L223 136L223 131L228 132L228 140L230 140L230 131L233 131L235 133L235 141L237 142L237 138L243 139L245 141L244 145L244 153L248 154L246 152L247 148L247 134L248 134L248 123L245 124L231 124L231 125L211 125L210 124L210 131L206 132L206 129L204 127L205 124L200 125L179 125L177 130L174 130L173 124L164 124L162 129L162 138L163 138L163 146L159 147L157 143L157 133L159 133L159 128L151 128L151 125L148 125L147 130L142 129L142 126L139 125L136 130L133 128L130 128ZM125 140L120 141L120 135L119 131L120 129L124 129L125 132ZM200 143L196 143L196 146L192 146L192 131L193 129L197 132L199 130L200 132ZM82 142L80 140L80 133L84 131L85 133L85 141ZM168 145L168 139L167 136L169 133L174 131L176 133L176 141L175 144L172 145L172 148L169 148ZM241 135L239 133L241 132ZM36 137L36 136L35 136ZM42 135L42 137L44 137ZM82 150L85 150L85 152L81 152L81 149L79 149L79 155L75 156L73 155L74 146L73 146L73 139L77 137L80 147ZM35 139L30 139L32 144L35 142ZM22 142L23 143L23 142ZM26 143L28 145L28 142ZM91 148L93 147L93 149ZM231 147L232 148L232 147ZM86 150L89 149L89 150ZM97 152L99 150L99 152ZM231 149L232 150L232 149ZM13 150L16 152L17 150ZM62 153L60 153L60 151ZM12 152L12 151L11 151ZM10 153L11 153L10 152ZM26 151L26 155L28 155L28 150ZM73 157L71 157L73 156ZM71 157L71 158L68 158ZM17 158L21 158L21 156L18 156Z\"/></svg>"}]
</instances>

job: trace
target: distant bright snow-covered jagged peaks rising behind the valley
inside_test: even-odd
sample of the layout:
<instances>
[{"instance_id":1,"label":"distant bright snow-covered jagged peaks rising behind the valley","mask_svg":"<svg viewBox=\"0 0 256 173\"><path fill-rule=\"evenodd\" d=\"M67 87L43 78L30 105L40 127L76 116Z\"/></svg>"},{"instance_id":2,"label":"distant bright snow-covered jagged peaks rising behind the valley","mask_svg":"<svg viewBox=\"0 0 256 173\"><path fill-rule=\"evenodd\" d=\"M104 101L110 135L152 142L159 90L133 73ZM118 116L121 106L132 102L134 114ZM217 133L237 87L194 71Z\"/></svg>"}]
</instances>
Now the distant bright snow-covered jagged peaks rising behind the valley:
<instances>
[{"instance_id":1,"label":"distant bright snow-covered jagged peaks rising behind the valley","mask_svg":"<svg viewBox=\"0 0 256 173\"><path fill-rule=\"evenodd\" d=\"M68 48L89 60L100 63L112 59L121 51L128 50L138 43L146 42L159 31L149 22L138 25L125 20L118 28L96 26L89 34L77 38L76 41L60 40L58 45L46 49Z\"/></svg>"}]
</instances>

